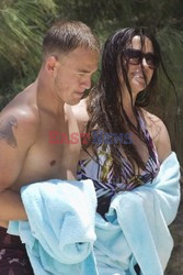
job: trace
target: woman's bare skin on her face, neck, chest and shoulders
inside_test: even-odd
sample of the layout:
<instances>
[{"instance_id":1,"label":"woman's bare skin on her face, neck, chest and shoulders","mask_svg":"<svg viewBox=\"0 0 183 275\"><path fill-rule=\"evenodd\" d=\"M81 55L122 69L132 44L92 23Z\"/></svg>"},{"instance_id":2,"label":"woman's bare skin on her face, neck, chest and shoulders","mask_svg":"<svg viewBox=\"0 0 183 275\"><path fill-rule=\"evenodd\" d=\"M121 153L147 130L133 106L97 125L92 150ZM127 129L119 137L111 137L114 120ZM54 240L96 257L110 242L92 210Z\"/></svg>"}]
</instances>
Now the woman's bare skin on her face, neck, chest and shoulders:
<instances>
[{"instance_id":1,"label":"woman's bare skin on her face, neck, chest and shoulders","mask_svg":"<svg viewBox=\"0 0 183 275\"><path fill-rule=\"evenodd\" d=\"M136 48L136 50L141 50L139 36L135 36L133 38L131 47ZM145 40L145 45L142 47L142 52L144 53L153 53L152 44L151 44L150 40L147 37ZM145 87L147 85L145 79L144 79L144 75L142 75L141 69L144 69L144 74L146 75L147 84L149 84L151 80L151 77L153 75L153 69L149 68L148 64L146 63L146 59L145 58L142 59L141 65L140 64L139 65L130 65L129 64L128 79L129 79L129 84L130 84L131 90L133 90L133 103L135 103L138 92L140 90L145 89ZM123 87L123 100L124 100L125 111L128 114L128 118L130 119L130 121L136 125L137 122L136 122L136 119L135 119L133 110L131 110L129 94L127 91L127 87L125 85L125 81L123 79L123 74L121 70L119 70L119 79L121 79L121 84ZM75 117L77 118L80 131L81 132L84 131L84 125L89 120L89 114L87 112L87 99L81 100L77 106L72 107L72 110L73 110ZM163 124L163 122L155 114L147 112L142 108L139 108L139 112L144 117L144 120L146 122L146 128L149 131L150 136L156 145L159 161L160 161L160 163L162 163L163 160L168 155L170 155L170 153L171 153L170 138L169 138L167 128ZM133 143L136 145L140 156L141 156L141 158L146 163L148 157L149 157L147 146L134 133L131 133L131 139L133 139ZM92 154L91 150L90 150L90 154ZM124 152L123 152L123 154L124 154ZM81 151L80 160L84 160L84 158L89 158L89 154Z\"/></svg>"}]
</instances>

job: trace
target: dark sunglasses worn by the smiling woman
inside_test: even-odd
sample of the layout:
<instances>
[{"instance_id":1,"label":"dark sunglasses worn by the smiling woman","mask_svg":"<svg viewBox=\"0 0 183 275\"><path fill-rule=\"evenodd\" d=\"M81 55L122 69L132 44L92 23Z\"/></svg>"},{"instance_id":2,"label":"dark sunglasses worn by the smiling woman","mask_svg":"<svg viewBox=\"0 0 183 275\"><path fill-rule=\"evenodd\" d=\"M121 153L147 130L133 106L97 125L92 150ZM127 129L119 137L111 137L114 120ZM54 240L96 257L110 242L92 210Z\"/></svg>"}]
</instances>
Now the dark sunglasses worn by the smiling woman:
<instances>
[{"instance_id":1,"label":"dark sunglasses worn by the smiling woman","mask_svg":"<svg viewBox=\"0 0 183 275\"><path fill-rule=\"evenodd\" d=\"M145 58L149 68L156 69L159 66L159 58L152 53L145 54L141 51L135 48L126 48L123 51L123 53L128 64L139 65Z\"/></svg>"}]
</instances>

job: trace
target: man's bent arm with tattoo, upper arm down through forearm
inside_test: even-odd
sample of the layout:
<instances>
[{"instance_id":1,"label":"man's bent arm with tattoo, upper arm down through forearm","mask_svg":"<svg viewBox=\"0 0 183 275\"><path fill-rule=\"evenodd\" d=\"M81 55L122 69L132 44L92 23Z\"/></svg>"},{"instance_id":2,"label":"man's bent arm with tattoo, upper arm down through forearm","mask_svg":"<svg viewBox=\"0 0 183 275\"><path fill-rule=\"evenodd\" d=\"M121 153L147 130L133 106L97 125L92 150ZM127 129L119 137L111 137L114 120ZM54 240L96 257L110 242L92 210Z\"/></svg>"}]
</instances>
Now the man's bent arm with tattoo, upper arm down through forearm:
<instances>
[{"instance_id":1,"label":"man's bent arm with tattoo, upper arm down through forearm","mask_svg":"<svg viewBox=\"0 0 183 275\"><path fill-rule=\"evenodd\" d=\"M12 114L13 113L13 114ZM13 191L33 136L28 116L5 112L0 116L0 220L26 220L19 193Z\"/></svg>"}]
</instances>

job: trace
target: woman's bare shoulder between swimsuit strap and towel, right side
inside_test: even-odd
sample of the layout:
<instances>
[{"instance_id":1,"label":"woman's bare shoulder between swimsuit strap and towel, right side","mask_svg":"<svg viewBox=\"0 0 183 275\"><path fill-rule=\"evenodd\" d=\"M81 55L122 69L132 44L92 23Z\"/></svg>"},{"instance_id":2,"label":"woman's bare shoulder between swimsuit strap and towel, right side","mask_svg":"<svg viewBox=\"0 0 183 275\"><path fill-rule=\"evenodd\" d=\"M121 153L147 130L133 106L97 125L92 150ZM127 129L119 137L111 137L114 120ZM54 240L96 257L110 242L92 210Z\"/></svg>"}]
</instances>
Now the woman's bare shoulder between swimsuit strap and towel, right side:
<instances>
[{"instance_id":1,"label":"woman's bare shoulder between swimsuit strap and towel, right side","mask_svg":"<svg viewBox=\"0 0 183 275\"><path fill-rule=\"evenodd\" d=\"M146 128L156 145L159 161L162 163L171 153L171 143L167 127L159 117L145 109L141 109L141 112Z\"/></svg>"}]
</instances>

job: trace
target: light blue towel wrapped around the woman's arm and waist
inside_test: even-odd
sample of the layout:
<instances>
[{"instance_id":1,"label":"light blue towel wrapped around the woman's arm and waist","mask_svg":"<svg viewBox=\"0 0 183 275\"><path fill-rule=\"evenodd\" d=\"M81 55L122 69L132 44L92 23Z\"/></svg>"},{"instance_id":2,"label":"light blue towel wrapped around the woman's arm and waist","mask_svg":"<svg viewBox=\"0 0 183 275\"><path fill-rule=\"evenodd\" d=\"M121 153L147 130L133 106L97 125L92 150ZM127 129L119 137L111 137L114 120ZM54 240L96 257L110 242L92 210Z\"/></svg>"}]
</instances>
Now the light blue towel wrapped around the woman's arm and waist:
<instances>
[{"instance_id":1,"label":"light blue towel wrapped around the woman's arm and waist","mask_svg":"<svg viewBox=\"0 0 183 275\"><path fill-rule=\"evenodd\" d=\"M168 224L180 202L180 166L174 153L157 178L113 198L105 221L96 215L94 253L100 275L163 275L173 248Z\"/></svg>"}]
</instances>

